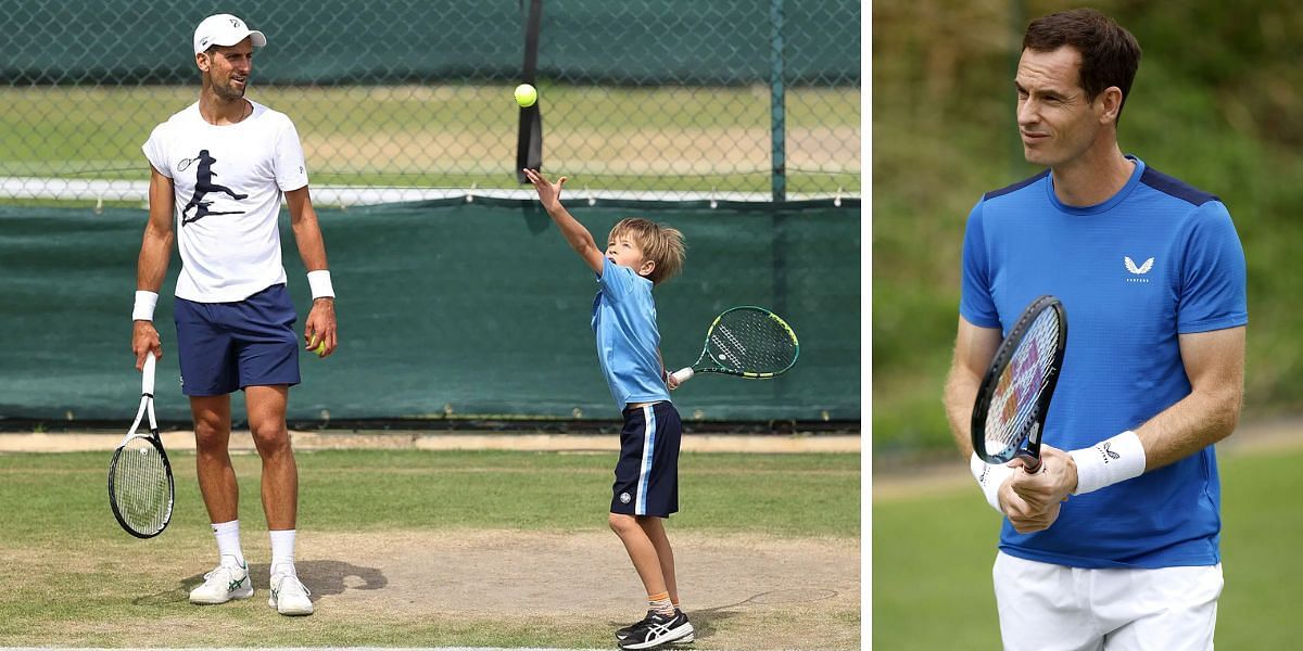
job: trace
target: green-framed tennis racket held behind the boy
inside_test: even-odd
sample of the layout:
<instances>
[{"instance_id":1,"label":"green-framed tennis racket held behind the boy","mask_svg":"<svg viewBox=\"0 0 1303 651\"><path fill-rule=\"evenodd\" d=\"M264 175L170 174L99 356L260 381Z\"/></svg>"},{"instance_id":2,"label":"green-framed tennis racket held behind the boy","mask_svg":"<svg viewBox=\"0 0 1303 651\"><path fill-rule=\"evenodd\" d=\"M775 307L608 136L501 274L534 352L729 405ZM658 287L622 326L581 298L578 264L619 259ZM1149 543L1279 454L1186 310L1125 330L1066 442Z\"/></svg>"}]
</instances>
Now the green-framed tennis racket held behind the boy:
<instances>
[{"instance_id":1,"label":"green-framed tennis racket held behind the boy","mask_svg":"<svg viewBox=\"0 0 1303 651\"><path fill-rule=\"evenodd\" d=\"M698 372L769 379L796 363L800 344L777 314L754 306L734 307L715 316L697 361L674 372L680 384Z\"/></svg>"}]
</instances>

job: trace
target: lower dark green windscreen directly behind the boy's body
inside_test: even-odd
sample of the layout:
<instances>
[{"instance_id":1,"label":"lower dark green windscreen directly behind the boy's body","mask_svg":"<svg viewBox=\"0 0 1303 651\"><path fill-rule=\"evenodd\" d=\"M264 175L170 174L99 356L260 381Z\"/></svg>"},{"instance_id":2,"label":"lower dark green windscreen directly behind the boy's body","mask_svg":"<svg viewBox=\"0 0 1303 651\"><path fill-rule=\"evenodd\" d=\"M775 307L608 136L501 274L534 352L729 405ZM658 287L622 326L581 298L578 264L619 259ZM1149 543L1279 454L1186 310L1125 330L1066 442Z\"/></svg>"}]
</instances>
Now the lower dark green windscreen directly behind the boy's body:
<instances>
[{"instance_id":1,"label":"lower dark green windscreen directly behind the boy's body","mask_svg":"<svg viewBox=\"0 0 1303 651\"><path fill-rule=\"evenodd\" d=\"M598 242L625 216L683 230L684 272L654 292L671 370L696 361L710 320L736 305L774 310L800 337L799 362L775 380L698 375L676 391L685 421L860 418L859 202L571 203ZM128 208L0 207L0 418L134 415L130 311L145 220ZM301 353L291 419L618 418L590 327L597 283L537 202L323 210L321 221L340 348L327 359ZM301 336L308 283L284 212L281 247ZM189 419L172 322L179 267L173 251L155 318L156 408L168 421ZM237 409L240 421L242 401Z\"/></svg>"}]
</instances>

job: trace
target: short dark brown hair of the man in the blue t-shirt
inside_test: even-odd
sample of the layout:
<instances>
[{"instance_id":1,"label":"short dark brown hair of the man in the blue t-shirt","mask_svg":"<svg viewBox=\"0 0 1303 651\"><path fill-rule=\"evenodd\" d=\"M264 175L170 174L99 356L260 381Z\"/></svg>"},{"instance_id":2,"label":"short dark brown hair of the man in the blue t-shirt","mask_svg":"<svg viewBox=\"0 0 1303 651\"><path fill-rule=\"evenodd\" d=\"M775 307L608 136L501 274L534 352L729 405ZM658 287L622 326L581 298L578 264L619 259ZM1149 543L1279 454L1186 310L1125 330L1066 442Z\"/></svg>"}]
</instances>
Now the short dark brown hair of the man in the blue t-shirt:
<instances>
[{"instance_id":1,"label":"short dark brown hair of the man in the blue t-shirt","mask_svg":"<svg viewBox=\"0 0 1303 651\"><path fill-rule=\"evenodd\" d=\"M1023 49L1053 52L1068 46L1081 55L1081 89L1093 100L1109 86L1122 90L1122 107L1131 94L1131 82L1140 68L1140 43L1113 18L1095 9L1071 9L1041 18L1027 26Z\"/></svg>"}]
</instances>

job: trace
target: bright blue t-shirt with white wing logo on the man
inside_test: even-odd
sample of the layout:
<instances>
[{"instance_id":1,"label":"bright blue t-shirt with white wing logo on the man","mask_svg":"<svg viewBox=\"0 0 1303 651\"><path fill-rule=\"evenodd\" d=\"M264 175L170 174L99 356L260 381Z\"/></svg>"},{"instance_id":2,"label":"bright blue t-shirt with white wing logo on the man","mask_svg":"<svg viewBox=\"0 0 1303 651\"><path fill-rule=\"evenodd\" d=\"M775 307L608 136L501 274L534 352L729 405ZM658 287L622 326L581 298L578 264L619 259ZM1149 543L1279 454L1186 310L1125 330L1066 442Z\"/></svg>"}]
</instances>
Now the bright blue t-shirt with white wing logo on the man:
<instances>
[{"instance_id":1,"label":"bright blue t-shirt with white wing logo on the man","mask_svg":"<svg viewBox=\"0 0 1303 651\"><path fill-rule=\"evenodd\" d=\"M1145 167L1089 207L1065 206L1042 172L988 193L968 216L959 312L1005 333L1040 294L1067 312L1067 352L1044 443L1085 448L1191 392L1178 335L1248 323L1244 251L1226 206ZM1045 531L1005 522L999 548L1076 568L1220 562L1213 447L1070 497Z\"/></svg>"}]
</instances>

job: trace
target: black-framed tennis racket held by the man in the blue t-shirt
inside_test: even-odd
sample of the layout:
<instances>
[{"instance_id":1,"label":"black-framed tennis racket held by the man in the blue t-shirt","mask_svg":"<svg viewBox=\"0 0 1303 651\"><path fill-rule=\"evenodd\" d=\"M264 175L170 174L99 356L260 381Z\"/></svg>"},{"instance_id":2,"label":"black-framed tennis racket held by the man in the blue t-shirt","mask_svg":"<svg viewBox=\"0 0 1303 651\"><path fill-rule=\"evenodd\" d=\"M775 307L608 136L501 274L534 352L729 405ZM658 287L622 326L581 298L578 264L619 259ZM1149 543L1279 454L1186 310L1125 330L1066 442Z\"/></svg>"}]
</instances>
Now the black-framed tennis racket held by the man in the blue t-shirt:
<instances>
[{"instance_id":1,"label":"black-framed tennis racket held by the man in the blue t-shirt","mask_svg":"<svg viewBox=\"0 0 1303 651\"><path fill-rule=\"evenodd\" d=\"M1067 312L1053 296L1027 306L982 378L973 405L973 450L988 464L1024 460L1024 470L1041 467L1041 430L1054 397L1063 350Z\"/></svg>"}]
</instances>

